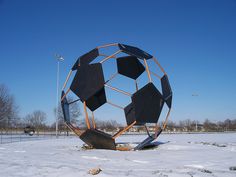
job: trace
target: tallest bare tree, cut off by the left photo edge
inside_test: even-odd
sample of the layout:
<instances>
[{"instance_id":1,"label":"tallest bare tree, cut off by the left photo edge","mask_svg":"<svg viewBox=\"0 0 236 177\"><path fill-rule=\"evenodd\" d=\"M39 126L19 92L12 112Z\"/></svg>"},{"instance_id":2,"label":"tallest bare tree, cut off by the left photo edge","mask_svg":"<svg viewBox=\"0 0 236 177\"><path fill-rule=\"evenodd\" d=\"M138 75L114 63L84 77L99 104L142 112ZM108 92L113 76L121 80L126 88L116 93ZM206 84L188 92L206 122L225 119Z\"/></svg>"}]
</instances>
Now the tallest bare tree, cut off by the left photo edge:
<instances>
[{"instance_id":1,"label":"tallest bare tree, cut off by the left photo edge","mask_svg":"<svg viewBox=\"0 0 236 177\"><path fill-rule=\"evenodd\" d=\"M17 106L8 88L0 84L0 126L6 128L17 118Z\"/></svg>"}]
</instances>

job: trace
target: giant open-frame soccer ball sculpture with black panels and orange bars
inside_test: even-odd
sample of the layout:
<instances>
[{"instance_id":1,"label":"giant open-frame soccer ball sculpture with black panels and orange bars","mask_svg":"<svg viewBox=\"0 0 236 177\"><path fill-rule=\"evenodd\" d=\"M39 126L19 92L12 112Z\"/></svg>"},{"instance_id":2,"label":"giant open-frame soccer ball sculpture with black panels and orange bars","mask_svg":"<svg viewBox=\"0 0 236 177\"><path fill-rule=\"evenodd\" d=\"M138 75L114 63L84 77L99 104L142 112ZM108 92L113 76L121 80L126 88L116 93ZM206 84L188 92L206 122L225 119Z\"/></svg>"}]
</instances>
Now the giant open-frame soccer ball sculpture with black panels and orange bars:
<instances>
[{"instance_id":1,"label":"giant open-frame soccer ball sculpture with black panels and orange bars","mask_svg":"<svg viewBox=\"0 0 236 177\"><path fill-rule=\"evenodd\" d=\"M113 51L114 49L116 51ZM112 54L106 54L106 52L111 51L113 51ZM103 65L109 60L113 60L116 63L113 64L116 65L116 71L113 71L114 73L108 79L105 79L105 67ZM155 65L162 75L156 74L155 71L150 69L151 65L148 62L151 60L153 61L152 65ZM72 83L66 89L73 72L75 72L75 75ZM133 93L110 84L118 75L130 79L128 82L132 83L135 88ZM144 83L140 79L141 75L145 75L147 82L139 88L139 83ZM152 76L159 82L159 90ZM65 89L66 91L64 91ZM112 100L108 100L107 89L129 97L129 103L122 107L112 102ZM70 92L73 92L78 99L68 102L67 95ZM76 101L80 101L83 104L86 130L82 130L71 123L69 107ZM104 104L109 104L124 111L127 126L118 130L114 135L102 132L99 127L96 127L94 114ZM61 106L66 125L88 146L96 149L119 150L120 146L115 143L117 137L133 126L144 126L148 136L133 148L134 150L143 149L165 129L171 104L172 91L168 76L157 59L137 47L118 43L96 47L79 57L67 76L61 95ZM167 111L163 123L159 126L158 120L164 105L166 105ZM92 115L91 119L89 118L89 112ZM147 124L154 125L153 127L155 128L152 133L149 132Z\"/></svg>"}]
</instances>

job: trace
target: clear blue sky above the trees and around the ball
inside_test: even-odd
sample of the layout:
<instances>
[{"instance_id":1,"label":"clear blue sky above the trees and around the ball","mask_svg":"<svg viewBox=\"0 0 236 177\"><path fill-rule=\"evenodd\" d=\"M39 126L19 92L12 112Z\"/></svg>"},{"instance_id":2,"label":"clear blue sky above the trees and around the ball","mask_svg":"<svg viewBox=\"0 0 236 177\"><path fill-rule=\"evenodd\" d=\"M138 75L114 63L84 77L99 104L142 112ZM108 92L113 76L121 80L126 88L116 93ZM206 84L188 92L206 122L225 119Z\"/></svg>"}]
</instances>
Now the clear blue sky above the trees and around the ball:
<instances>
[{"instance_id":1,"label":"clear blue sky above the trees and around the ball","mask_svg":"<svg viewBox=\"0 0 236 177\"><path fill-rule=\"evenodd\" d=\"M0 0L0 22L0 83L21 116L41 109L53 121L55 53L65 58L62 83L78 56L120 42L159 58L172 120L236 118L235 0Z\"/></svg>"}]
</instances>

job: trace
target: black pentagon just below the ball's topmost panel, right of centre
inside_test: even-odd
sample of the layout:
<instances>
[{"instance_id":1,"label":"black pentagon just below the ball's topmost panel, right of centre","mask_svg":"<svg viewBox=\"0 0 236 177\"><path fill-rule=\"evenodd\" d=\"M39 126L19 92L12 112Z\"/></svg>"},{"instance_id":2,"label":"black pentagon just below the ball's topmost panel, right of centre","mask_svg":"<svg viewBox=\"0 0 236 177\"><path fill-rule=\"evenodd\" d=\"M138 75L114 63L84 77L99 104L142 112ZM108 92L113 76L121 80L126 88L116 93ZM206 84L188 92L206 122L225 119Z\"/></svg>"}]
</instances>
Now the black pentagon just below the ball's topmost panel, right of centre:
<instances>
[{"instance_id":1,"label":"black pentagon just below the ball's topmost panel, right of centre","mask_svg":"<svg viewBox=\"0 0 236 177\"><path fill-rule=\"evenodd\" d=\"M143 64L135 56L119 57L116 62L118 73L135 80L145 71Z\"/></svg>"}]
</instances>

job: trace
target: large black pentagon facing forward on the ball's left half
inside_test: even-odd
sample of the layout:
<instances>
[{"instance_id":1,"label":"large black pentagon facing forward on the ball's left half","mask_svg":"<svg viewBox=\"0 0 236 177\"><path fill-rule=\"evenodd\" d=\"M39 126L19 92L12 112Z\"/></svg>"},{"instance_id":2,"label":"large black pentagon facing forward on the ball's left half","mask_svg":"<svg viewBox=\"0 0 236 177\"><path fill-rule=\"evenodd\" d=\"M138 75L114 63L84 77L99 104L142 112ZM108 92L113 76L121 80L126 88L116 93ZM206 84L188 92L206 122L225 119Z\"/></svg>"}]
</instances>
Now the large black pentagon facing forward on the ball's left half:
<instances>
[{"instance_id":1,"label":"large black pentagon facing forward on the ball's left half","mask_svg":"<svg viewBox=\"0 0 236 177\"><path fill-rule=\"evenodd\" d=\"M80 66L70 89L81 101L87 101L104 87L102 64L95 63Z\"/></svg>"}]
</instances>

